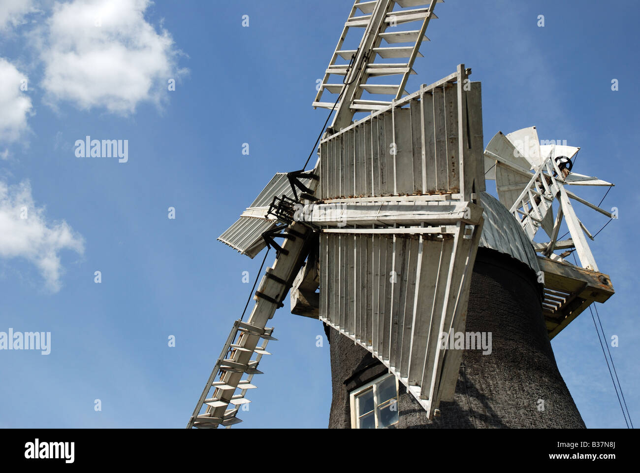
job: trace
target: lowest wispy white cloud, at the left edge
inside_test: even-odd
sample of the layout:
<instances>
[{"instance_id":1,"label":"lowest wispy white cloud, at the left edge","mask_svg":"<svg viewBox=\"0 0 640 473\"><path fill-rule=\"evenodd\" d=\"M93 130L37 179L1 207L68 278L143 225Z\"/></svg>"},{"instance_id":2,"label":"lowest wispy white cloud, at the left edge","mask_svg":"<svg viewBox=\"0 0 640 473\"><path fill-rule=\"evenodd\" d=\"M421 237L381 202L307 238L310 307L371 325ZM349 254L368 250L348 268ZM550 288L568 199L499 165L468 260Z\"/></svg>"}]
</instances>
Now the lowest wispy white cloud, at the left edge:
<instances>
[{"instance_id":1,"label":"lowest wispy white cloud, at the left edge","mask_svg":"<svg viewBox=\"0 0 640 473\"><path fill-rule=\"evenodd\" d=\"M15 186L0 181L0 258L26 258L40 270L47 288L58 292L63 249L83 254L84 238L64 220L47 222L28 181Z\"/></svg>"}]
</instances>

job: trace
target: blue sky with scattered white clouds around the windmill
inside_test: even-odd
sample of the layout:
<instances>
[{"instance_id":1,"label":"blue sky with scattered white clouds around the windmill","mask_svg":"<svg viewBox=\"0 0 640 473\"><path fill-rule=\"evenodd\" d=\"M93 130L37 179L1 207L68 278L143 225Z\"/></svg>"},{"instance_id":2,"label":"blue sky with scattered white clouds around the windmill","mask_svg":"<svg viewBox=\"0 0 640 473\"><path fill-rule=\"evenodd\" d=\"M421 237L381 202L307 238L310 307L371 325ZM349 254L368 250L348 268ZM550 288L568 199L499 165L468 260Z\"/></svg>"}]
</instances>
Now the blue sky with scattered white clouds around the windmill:
<instances>
[{"instance_id":1,"label":"blue sky with scattered white clouds around the windmill","mask_svg":"<svg viewBox=\"0 0 640 473\"><path fill-rule=\"evenodd\" d=\"M49 354L0 351L0 427L186 426L262 261L216 238L307 159L327 113L311 106L316 81L352 4L0 2L0 331L51 332ZM537 126L581 147L576 172L616 184L602 206L619 218L590 245L616 289L598 311L632 420L638 13L634 0L447 0L407 86L464 63L483 84L485 145ZM122 153L84 156L86 137ZM589 229L607 222L576 209ZM321 322L288 298L270 322L278 342L234 428L326 427ZM625 427L589 313L552 346L586 425Z\"/></svg>"}]
</instances>

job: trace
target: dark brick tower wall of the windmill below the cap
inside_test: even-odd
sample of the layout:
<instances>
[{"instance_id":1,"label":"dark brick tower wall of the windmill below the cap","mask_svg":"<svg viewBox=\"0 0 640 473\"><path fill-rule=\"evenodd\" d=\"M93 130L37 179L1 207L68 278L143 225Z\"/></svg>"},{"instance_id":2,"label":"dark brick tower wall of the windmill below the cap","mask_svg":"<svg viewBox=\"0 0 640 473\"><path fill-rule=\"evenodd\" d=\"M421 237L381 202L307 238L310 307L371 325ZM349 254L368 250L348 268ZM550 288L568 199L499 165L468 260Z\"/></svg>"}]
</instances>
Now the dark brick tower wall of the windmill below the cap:
<instances>
[{"instance_id":1,"label":"dark brick tower wall of the windmill below the cap","mask_svg":"<svg viewBox=\"0 0 640 473\"><path fill-rule=\"evenodd\" d=\"M454 400L441 402L440 417L433 421L401 384L399 427L585 427L557 369L540 301L541 288L529 267L479 249L466 330L492 332L492 354L465 351ZM325 331L331 344L333 391L329 427L349 428L349 391L387 369L346 336L326 326ZM539 399L544 411L538 410Z\"/></svg>"}]
</instances>

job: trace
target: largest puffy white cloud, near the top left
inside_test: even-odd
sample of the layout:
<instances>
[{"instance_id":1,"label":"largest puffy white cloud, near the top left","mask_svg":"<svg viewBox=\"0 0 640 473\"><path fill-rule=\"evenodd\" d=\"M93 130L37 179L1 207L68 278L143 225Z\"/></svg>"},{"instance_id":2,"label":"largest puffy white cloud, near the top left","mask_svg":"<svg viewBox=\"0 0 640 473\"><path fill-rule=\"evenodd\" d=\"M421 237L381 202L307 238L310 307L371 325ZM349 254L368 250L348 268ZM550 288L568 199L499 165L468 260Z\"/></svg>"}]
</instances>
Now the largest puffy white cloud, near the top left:
<instances>
[{"instance_id":1,"label":"largest puffy white cloud, near the top left","mask_svg":"<svg viewBox=\"0 0 640 473\"><path fill-rule=\"evenodd\" d=\"M179 52L166 30L145 21L149 0L74 0L56 3L43 34L43 86L52 103L133 112L158 104Z\"/></svg>"}]
</instances>

